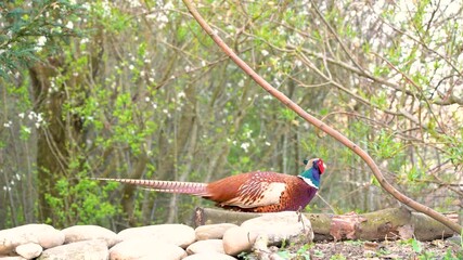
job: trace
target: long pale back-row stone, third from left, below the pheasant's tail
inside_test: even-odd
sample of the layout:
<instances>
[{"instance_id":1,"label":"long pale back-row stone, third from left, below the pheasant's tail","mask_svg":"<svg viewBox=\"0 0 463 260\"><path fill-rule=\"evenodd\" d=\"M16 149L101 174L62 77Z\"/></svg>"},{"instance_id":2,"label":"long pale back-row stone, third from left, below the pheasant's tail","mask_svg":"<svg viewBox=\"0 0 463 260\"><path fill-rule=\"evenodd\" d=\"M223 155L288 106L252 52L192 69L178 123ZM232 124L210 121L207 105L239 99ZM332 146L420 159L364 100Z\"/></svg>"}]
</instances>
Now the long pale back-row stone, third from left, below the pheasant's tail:
<instances>
[{"instance_id":1,"label":"long pale back-row stone, third from left, below the pheasant's tail","mask_svg":"<svg viewBox=\"0 0 463 260\"><path fill-rule=\"evenodd\" d=\"M153 237L181 248L187 248L196 239L193 227L184 224L159 224L130 227L120 231L117 236L120 240L138 237Z\"/></svg>"}]
</instances>

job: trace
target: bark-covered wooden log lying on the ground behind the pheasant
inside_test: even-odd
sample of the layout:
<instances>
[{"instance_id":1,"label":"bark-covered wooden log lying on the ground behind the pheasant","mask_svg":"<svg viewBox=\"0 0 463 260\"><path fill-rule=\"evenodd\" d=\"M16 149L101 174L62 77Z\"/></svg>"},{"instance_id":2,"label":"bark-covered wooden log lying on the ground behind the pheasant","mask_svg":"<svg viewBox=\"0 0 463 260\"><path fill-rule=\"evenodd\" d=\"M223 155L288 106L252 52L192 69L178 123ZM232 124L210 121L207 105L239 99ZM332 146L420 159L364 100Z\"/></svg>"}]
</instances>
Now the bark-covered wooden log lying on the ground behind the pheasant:
<instances>
[{"instance_id":1,"label":"bark-covered wooden log lying on the ground behind the pheasant","mask_svg":"<svg viewBox=\"0 0 463 260\"><path fill-rule=\"evenodd\" d=\"M216 223L240 225L248 219L263 213L236 212L215 208L196 208L193 216L195 226ZM384 240L415 237L419 240L446 238L453 231L440 222L406 207L388 208L357 214L304 213L311 222L314 240ZM458 220L454 219L456 222Z\"/></svg>"}]
</instances>

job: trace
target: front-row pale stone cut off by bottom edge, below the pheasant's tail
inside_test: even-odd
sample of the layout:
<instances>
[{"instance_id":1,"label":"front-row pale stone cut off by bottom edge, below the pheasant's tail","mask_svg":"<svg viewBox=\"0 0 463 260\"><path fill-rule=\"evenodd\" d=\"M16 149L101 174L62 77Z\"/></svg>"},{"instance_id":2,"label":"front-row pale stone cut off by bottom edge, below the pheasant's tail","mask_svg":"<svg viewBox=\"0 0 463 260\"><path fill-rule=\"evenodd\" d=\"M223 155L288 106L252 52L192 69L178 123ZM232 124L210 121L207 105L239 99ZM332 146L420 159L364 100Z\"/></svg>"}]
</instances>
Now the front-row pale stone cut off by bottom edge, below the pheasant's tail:
<instances>
[{"instance_id":1,"label":"front-row pale stone cut off by bottom edge, below the pheasant's tail","mask_svg":"<svg viewBox=\"0 0 463 260\"><path fill-rule=\"evenodd\" d=\"M110 249L110 259L180 260L187 252L179 246L154 237L127 238Z\"/></svg>"}]
</instances>

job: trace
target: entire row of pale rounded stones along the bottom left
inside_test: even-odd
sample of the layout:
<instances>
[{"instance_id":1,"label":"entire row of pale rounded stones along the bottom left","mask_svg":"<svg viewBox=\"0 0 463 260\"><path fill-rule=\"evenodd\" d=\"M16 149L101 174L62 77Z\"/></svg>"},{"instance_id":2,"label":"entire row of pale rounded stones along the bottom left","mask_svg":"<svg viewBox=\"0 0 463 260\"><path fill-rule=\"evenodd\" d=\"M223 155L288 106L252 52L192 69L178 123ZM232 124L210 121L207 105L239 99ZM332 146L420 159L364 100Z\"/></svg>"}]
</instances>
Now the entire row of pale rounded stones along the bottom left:
<instances>
[{"instance_id":1,"label":"entire row of pale rounded stones along the bottom left","mask_svg":"<svg viewBox=\"0 0 463 260\"><path fill-rule=\"evenodd\" d=\"M268 213L241 226L158 224L118 234L98 225L56 230L26 224L0 231L0 260L232 260L241 252L265 251L283 240L309 243L312 238L310 221L296 212Z\"/></svg>"}]
</instances>

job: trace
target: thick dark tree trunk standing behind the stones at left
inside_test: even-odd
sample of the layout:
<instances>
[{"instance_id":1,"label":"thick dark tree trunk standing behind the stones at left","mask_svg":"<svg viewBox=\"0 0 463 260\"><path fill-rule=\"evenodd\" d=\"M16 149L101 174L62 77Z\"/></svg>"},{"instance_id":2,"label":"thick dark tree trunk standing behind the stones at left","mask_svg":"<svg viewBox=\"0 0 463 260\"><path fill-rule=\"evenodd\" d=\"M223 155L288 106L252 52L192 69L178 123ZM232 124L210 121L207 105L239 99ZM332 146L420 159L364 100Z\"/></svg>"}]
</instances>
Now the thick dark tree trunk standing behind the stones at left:
<instances>
[{"instance_id":1,"label":"thick dark tree trunk standing behind the stones at left","mask_svg":"<svg viewBox=\"0 0 463 260\"><path fill-rule=\"evenodd\" d=\"M47 127L42 127L37 135L37 183L38 183L38 212L39 221L52 222L56 225L73 224L77 216L66 212L66 219L60 219L57 209L69 209L72 195L63 197L63 192L56 185L63 177L75 174L68 172L68 164L73 148L78 147L82 136L82 123L77 115L65 115L63 104L67 102L68 90L76 81L62 86L52 86L50 79L59 75L64 62L59 58L49 58L48 64L39 63L29 68L36 109L42 114ZM77 80L77 79L76 79ZM69 80L70 81L70 80ZM68 83L68 84L67 84ZM78 102L78 101L76 101ZM79 169L75 169L79 171ZM69 182L77 181L69 178ZM52 203L50 198L55 198ZM68 223L63 223L68 222Z\"/></svg>"}]
</instances>

